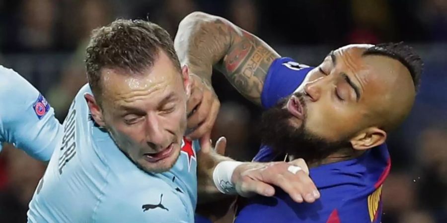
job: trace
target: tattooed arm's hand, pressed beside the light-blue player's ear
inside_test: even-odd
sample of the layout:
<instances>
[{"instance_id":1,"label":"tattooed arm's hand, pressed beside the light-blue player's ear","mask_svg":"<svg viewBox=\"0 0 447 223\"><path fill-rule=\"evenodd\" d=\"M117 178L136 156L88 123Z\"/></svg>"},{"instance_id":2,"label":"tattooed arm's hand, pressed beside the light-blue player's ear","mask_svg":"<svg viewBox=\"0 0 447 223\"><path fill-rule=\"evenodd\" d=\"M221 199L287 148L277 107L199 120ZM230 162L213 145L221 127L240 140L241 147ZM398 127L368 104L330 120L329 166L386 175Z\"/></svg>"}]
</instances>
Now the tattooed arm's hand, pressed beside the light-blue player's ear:
<instances>
[{"instance_id":1,"label":"tattooed arm's hand, pressed beside the light-blue player's ear","mask_svg":"<svg viewBox=\"0 0 447 223\"><path fill-rule=\"evenodd\" d=\"M191 96L187 102L188 134L190 139L198 139L210 134L221 107L211 83L191 74Z\"/></svg>"}]
</instances>

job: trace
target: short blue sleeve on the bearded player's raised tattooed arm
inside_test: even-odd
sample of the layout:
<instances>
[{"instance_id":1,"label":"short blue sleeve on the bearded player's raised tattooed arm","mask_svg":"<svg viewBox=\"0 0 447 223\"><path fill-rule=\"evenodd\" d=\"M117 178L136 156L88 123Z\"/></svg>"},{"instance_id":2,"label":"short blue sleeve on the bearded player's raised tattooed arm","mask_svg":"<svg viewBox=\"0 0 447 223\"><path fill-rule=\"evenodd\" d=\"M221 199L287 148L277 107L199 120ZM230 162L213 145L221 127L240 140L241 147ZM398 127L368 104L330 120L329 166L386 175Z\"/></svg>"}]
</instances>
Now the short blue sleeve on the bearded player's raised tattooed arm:
<instances>
[{"instance_id":1,"label":"short blue sleeve on the bearded player's raised tattooed arm","mask_svg":"<svg viewBox=\"0 0 447 223\"><path fill-rule=\"evenodd\" d=\"M277 58L270 65L261 92L261 104L265 109L275 106L278 101L291 95L313 69L295 62L292 58Z\"/></svg>"}]
</instances>

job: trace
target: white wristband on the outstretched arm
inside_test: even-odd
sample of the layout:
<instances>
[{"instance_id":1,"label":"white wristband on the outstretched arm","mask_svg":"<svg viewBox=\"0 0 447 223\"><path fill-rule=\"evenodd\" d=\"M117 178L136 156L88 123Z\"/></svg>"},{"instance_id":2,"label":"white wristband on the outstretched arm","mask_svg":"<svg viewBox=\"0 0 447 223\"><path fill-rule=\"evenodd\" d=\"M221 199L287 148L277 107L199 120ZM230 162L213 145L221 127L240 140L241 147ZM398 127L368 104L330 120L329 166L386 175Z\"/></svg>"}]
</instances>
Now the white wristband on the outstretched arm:
<instances>
[{"instance_id":1,"label":"white wristband on the outstretched arm","mask_svg":"<svg viewBox=\"0 0 447 223\"><path fill-rule=\"evenodd\" d=\"M237 161L223 161L219 163L213 171L213 181L219 191L224 194L237 194L231 176L236 167L243 164Z\"/></svg>"}]
</instances>

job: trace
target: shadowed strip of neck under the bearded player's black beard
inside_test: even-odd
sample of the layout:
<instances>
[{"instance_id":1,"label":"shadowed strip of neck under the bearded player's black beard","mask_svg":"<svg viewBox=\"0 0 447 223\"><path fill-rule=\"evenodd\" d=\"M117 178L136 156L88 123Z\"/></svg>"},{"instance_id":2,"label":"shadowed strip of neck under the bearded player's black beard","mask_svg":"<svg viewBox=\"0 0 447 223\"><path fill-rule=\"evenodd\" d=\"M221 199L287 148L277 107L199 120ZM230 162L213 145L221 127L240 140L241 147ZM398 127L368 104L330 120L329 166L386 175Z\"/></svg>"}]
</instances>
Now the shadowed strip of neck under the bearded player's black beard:
<instances>
[{"instance_id":1,"label":"shadowed strip of neck under the bearded player's black beard","mask_svg":"<svg viewBox=\"0 0 447 223\"><path fill-rule=\"evenodd\" d=\"M309 168L310 167L318 167L318 166L325 165L325 164L332 164L332 163L355 159L357 157L360 157L364 153L365 153L364 150L355 150L352 148L344 148L344 149L339 150L336 153L329 155L328 157L326 157L322 160L312 161L309 163L306 162L306 163ZM295 157L295 156L291 155L291 156L287 156L286 160L293 161L298 158L299 157Z\"/></svg>"}]
</instances>

